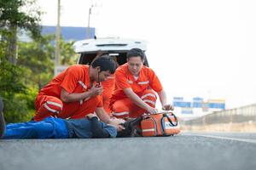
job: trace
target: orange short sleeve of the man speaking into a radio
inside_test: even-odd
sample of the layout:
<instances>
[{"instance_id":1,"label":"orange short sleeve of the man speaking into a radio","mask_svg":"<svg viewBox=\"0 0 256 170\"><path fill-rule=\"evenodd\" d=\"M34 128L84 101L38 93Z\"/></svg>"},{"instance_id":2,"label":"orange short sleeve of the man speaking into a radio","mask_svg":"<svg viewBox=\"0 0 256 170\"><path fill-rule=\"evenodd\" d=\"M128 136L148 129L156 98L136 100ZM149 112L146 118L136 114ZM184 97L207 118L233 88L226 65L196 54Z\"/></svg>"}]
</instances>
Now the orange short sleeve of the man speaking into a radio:
<instances>
[{"instance_id":1,"label":"orange short sleeve of the man speaking into a radio","mask_svg":"<svg viewBox=\"0 0 256 170\"><path fill-rule=\"evenodd\" d=\"M73 65L67 68L65 77L61 82L61 88L65 89L68 94L72 94L79 82L79 67Z\"/></svg>"}]
</instances>

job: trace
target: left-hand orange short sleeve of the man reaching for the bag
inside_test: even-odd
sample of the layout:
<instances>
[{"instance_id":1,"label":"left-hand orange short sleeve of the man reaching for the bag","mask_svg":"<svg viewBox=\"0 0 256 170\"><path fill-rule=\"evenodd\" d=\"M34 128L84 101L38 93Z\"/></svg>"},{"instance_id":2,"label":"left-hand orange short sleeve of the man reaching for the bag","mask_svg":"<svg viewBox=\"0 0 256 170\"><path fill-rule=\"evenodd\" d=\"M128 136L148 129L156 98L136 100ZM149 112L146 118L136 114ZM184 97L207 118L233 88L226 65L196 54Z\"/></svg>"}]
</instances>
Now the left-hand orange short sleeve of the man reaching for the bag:
<instances>
[{"instance_id":1,"label":"left-hand orange short sleeve of the man reaching for the bag","mask_svg":"<svg viewBox=\"0 0 256 170\"><path fill-rule=\"evenodd\" d=\"M131 85L128 83L127 75L125 75L125 71L119 70L114 73L115 84L118 88L122 90L125 88L131 88Z\"/></svg>"}]
</instances>

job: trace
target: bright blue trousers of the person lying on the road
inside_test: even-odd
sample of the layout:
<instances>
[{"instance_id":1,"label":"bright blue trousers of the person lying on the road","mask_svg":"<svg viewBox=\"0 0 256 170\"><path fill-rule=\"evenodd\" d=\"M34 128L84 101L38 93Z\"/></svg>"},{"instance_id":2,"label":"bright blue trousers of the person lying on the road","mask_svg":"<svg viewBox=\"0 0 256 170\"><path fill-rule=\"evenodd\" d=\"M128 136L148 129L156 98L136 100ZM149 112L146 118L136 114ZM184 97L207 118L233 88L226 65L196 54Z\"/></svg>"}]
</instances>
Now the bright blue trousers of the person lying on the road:
<instances>
[{"instance_id":1,"label":"bright blue trousers of the person lying on the road","mask_svg":"<svg viewBox=\"0 0 256 170\"><path fill-rule=\"evenodd\" d=\"M67 139L66 123L60 118L48 117L40 122L10 123L3 139Z\"/></svg>"}]
</instances>

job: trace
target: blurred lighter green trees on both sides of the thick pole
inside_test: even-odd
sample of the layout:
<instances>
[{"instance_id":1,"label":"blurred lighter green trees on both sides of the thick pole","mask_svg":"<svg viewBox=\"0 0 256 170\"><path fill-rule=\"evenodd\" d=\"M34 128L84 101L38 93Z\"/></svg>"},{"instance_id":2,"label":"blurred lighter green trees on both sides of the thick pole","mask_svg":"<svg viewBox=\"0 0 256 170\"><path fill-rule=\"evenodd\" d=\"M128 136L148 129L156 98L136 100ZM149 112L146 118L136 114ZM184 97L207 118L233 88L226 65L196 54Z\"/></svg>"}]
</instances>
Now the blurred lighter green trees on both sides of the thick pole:
<instances>
[{"instance_id":1,"label":"blurred lighter green trees on both sides of the thick pole","mask_svg":"<svg viewBox=\"0 0 256 170\"><path fill-rule=\"evenodd\" d=\"M25 82L34 88L41 89L47 84L54 72L54 35L46 35L32 42L19 42L19 58L17 65L26 67L29 71ZM73 65L78 59L74 52L73 42L60 41L61 65Z\"/></svg>"}]
</instances>

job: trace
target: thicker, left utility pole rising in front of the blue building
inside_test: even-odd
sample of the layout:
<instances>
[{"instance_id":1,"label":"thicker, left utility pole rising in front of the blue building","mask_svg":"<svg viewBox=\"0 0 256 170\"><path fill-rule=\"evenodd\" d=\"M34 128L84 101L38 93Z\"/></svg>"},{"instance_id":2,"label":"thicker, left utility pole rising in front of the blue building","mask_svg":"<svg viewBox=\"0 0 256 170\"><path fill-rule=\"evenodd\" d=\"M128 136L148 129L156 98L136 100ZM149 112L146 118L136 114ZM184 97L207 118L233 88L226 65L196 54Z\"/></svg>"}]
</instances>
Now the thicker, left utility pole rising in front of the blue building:
<instances>
[{"instance_id":1,"label":"thicker, left utility pole rising in front of the blue building","mask_svg":"<svg viewBox=\"0 0 256 170\"><path fill-rule=\"evenodd\" d=\"M58 0L58 16L57 16L57 26L55 34L55 69L56 66L60 65L60 37L61 37L61 0Z\"/></svg>"}]
</instances>

